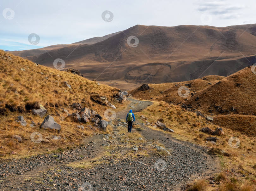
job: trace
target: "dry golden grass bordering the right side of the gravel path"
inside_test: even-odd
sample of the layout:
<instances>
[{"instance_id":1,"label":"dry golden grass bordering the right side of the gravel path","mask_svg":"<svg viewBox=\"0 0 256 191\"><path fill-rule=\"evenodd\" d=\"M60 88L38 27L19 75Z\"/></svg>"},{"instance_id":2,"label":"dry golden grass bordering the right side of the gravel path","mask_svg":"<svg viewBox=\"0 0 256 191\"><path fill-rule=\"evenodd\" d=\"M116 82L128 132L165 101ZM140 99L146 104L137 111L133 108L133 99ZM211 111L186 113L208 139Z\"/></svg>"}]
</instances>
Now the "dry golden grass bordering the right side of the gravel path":
<instances>
[{"instance_id":1,"label":"dry golden grass bordering the right side of the gravel path","mask_svg":"<svg viewBox=\"0 0 256 191\"><path fill-rule=\"evenodd\" d=\"M249 180L256 187L254 181L256 180L256 138L248 137L246 134L241 134L234 129L223 127L225 135L214 136L219 138L216 145L211 143L206 143L207 137L212 137L212 135L205 134L199 130L204 127L209 127L210 129L215 129L219 127L201 116L197 116L193 112L188 112L182 109L180 106L167 104L166 102L156 102L149 106L147 109L137 113L137 115L144 115L149 120L149 123L153 124L160 118L163 123L174 130L175 133L165 132L159 128L149 126L149 128L162 131L164 133L170 134L173 137L189 141L195 144L203 145L212 150L217 156L219 156L221 170L220 174L217 174L217 181L229 182L227 185L222 186L222 190L232 187L239 188L245 181ZM141 119L141 121L145 121ZM237 137L240 139L240 146L235 149L229 145L229 138ZM212 148L212 149L210 149ZM224 150L225 153L221 151ZM241 170L242 166L242 170ZM234 169L234 172L230 172L230 168ZM241 172L245 175L242 177ZM234 178L235 176L235 178ZM237 177L236 177L237 176ZM226 178L225 178L226 177ZM255 181L256 182L256 181ZM219 188L216 186L216 188ZM213 188L211 188L213 189ZM217 190L217 189L214 189Z\"/></svg>"}]
</instances>

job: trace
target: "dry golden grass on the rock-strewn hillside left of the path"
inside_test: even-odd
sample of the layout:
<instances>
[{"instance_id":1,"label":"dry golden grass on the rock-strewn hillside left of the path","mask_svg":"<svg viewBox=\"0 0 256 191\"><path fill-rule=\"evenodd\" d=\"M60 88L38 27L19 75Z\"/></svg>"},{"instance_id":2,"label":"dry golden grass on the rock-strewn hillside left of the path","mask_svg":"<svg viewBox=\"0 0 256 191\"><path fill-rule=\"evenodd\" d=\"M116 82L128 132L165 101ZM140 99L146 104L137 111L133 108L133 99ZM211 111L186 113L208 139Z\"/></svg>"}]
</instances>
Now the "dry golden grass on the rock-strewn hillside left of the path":
<instances>
[{"instance_id":1,"label":"dry golden grass on the rock-strewn hillside left of the path","mask_svg":"<svg viewBox=\"0 0 256 191\"><path fill-rule=\"evenodd\" d=\"M12 60L8 59L8 56ZM21 70L22 68L25 71ZM72 89L69 89L65 82L70 84ZM4 158L22 157L50 152L58 147L79 145L86 136L91 136L93 132L97 133L99 130L90 129L88 125L93 125L92 123L79 124L63 120L67 114L62 110L66 109L69 113L74 113L75 111L70 105L80 103L104 116L104 111L109 107L93 102L90 96L104 95L118 106L120 104L113 99L116 91L113 87L98 85L97 82L78 75L36 65L31 61L0 50L0 146L4 148L0 149L0 156ZM43 130L39 126L30 126L31 121L37 124L44 120L31 112L31 109L38 108L39 104L48 110L47 115L52 115L55 121L61 125L59 134L55 130ZM24 117L28 123L27 126L21 126L20 123L14 121L18 115ZM77 125L84 125L85 129L78 129ZM111 131L112 127L108 127L107 132ZM37 144L30 140L32 132L41 133L43 138L49 135L58 135L62 139ZM13 135L21 136L23 142L18 143L12 138ZM18 155L10 156L9 153L13 150Z\"/></svg>"}]
</instances>

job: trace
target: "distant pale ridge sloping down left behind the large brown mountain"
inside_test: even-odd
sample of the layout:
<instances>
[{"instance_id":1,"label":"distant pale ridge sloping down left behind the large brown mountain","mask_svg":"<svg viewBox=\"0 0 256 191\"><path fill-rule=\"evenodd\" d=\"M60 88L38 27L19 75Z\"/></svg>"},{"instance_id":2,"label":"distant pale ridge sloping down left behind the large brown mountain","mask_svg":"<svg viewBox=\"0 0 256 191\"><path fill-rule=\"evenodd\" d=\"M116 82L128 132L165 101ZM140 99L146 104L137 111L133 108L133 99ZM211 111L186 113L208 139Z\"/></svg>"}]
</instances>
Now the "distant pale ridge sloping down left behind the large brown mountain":
<instances>
[{"instance_id":1,"label":"distant pale ridge sloping down left behind the large brown mountain","mask_svg":"<svg viewBox=\"0 0 256 191\"><path fill-rule=\"evenodd\" d=\"M77 45L81 45L81 44L94 44L94 43L106 40L107 38L112 37L112 36L114 36L114 35L116 35L120 32L122 32L122 31L115 32L115 33L112 33L112 34L108 34L108 35L105 35L103 37L89 38L89 39L79 41L79 42L75 42L75 43L72 43L72 44L57 44L57 45L52 45L52 46L48 46L48 47L44 47L44 48L31 49L31 50L9 51L9 53L12 53L15 56L21 56L21 57L36 56L36 55L39 55L39 54L47 53L50 50L64 48L64 47L68 47L68 46L72 46L72 45L77 46Z\"/></svg>"}]
</instances>

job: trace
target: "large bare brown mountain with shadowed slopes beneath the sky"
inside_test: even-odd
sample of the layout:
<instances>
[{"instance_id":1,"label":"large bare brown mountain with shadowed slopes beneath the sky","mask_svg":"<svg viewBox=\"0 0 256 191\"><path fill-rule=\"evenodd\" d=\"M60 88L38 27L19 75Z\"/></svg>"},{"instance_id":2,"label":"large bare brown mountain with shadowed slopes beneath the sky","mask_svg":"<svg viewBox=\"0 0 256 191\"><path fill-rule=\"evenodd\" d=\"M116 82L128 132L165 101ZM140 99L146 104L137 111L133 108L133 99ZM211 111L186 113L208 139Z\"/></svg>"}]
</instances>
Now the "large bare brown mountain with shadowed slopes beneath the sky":
<instances>
[{"instance_id":1,"label":"large bare brown mountain with shadowed slopes beneath the sky","mask_svg":"<svg viewBox=\"0 0 256 191\"><path fill-rule=\"evenodd\" d=\"M256 53L255 26L135 25L101 42L26 58L50 67L60 58L67 68L76 68L89 79L112 81L104 83L115 82L117 87L131 90L141 83L229 76L251 65ZM128 45L130 36L138 38L137 47Z\"/></svg>"}]
</instances>

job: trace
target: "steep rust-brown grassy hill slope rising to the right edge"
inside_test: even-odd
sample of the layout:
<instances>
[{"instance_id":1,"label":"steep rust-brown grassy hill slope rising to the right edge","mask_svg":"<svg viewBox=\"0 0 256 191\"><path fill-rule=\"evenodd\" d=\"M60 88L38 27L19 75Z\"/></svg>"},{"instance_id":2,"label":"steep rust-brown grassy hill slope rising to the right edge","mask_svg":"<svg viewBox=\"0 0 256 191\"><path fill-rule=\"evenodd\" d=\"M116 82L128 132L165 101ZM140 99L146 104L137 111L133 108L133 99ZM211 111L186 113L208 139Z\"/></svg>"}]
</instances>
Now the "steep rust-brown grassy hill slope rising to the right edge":
<instances>
[{"instance_id":1,"label":"steep rust-brown grassy hill slope rising to the right edge","mask_svg":"<svg viewBox=\"0 0 256 191\"><path fill-rule=\"evenodd\" d=\"M215 114L233 112L240 115L256 115L256 75L251 69L247 67L222 79L184 103L192 104L192 108L198 107L205 113L212 110L210 112ZM199 99L195 101L197 97Z\"/></svg>"}]
</instances>

